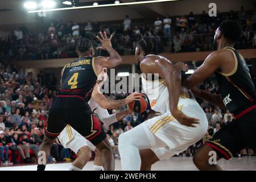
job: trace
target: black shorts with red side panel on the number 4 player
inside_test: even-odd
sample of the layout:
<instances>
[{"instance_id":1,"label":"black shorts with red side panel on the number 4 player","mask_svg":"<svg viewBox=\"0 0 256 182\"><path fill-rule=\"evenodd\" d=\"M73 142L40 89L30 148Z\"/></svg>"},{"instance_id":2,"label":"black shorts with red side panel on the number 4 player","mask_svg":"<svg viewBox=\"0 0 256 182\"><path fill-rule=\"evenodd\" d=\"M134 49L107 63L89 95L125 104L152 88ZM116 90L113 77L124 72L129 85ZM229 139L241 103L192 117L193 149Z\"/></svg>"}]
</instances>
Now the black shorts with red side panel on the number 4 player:
<instances>
[{"instance_id":1,"label":"black shorts with red side panel on the number 4 player","mask_svg":"<svg viewBox=\"0 0 256 182\"><path fill-rule=\"evenodd\" d=\"M88 103L81 98L57 97L52 102L45 135L48 138L56 138L66 125L72 126L94 145L106 138L100 121L93 115Z\"/></svg>"}]
</instances>

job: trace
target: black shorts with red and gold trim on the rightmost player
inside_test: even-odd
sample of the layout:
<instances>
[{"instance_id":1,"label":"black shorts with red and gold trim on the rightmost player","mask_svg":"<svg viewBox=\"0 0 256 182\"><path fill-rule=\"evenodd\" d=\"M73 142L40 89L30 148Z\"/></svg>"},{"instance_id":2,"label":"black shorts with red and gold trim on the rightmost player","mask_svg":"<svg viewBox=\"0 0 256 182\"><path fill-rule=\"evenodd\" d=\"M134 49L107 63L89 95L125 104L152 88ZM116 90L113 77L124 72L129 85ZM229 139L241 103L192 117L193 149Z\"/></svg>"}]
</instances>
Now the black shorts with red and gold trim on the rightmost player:
<instances>
[{"instance_id":1,"label":"black shorts with red and gold trim on the rightmost player","mask_svg":"<svg viewBox=\"0 0 256 182\"><path fill-rule=\"evenodd\" d=\"M222 127L205 145L227 160L246 147L256 151L256 109Z\"/></svg>"}]
</instances>

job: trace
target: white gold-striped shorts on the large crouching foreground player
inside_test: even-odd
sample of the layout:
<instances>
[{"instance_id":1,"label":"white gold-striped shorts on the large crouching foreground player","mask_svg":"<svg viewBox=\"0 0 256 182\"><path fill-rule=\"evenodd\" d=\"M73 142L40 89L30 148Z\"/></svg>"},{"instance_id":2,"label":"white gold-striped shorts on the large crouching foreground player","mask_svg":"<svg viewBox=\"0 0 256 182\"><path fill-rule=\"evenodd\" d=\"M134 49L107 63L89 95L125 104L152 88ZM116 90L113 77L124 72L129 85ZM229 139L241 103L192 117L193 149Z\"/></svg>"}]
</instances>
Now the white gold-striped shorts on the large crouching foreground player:
<instances>
[{"instance_id":1,"label":"white gold-striped shorts on the large crouching foreground player","mask_svg":"<svg viewBox=\"0 0 256 182\"><path fill-rule=\"evenodd\" d=\"M189 146L203 138L207 132L207 117L195 100L191 98L182 99L179 101L178 107L188 117L200 119L200 123L196 127L181 125L171 115L170 111L142 123L151 146L157 146L155 137L167 145L167 147L163 148L151 148L160 160L168 159L175 154L178 155L180 152L187 150Z\"/></svg>"}]
</instances>

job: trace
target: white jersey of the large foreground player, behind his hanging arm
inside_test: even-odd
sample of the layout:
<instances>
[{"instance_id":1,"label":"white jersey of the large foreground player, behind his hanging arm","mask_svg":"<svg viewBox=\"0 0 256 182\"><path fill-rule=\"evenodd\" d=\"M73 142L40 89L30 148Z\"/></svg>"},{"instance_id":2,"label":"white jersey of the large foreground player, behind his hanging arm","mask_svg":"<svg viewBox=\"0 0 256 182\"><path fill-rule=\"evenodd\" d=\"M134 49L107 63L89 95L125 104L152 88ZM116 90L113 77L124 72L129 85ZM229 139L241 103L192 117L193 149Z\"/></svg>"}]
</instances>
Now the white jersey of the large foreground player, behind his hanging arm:
<instances>
[{"instance_id":1,"label":"white jersey of the large foreground player, behind his hanging arm","mask_svg":"<svg viewBox=\"0 0 256 182\"><path fill-rule=\"evenodd\" d=\"M164 78L149 81L142 76L142 88L150 100L150 106L152 110L162 114L170 110L169 94ZM179 100L184 98L189 98L189 93L186 88L181 87Z\"/></svg>"}]
</instances>

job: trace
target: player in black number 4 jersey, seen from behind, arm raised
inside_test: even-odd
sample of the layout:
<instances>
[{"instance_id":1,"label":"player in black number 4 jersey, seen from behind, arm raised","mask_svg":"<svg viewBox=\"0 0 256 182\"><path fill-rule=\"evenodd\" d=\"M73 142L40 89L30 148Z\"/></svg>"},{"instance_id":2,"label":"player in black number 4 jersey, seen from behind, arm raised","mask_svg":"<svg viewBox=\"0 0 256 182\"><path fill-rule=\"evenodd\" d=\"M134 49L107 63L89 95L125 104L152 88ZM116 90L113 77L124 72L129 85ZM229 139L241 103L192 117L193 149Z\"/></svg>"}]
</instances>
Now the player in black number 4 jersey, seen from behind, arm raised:
<instances>
[{"instance_id":1,"label":"player in black number 4 jersey, seen from behind, arm raised","mask_svg":"<svg viewBox=\"0 0 256 182\"><path fill-rule=\"evenodd\" d=\"M69 124L101 151L104 169L114 170L112 146L106 138L100 121L90 110L88 101L102 68L113 68L122 63L122 58L112 48L112 35L110 38L107 38L106 32L104 35L100 32L100 35L101 38L99 36L97 38L102 46L98 49L108 51L109 57L93 57L92 42L88 39L80 39L76 49L79 59L66 64L61 71L60 90L49 109L44 140L39 147L39 151L46 152L46 161L52 143L55 142L56 137L64 127ZM120 102L120 105L129 103L125 103L125 100L116 102ZM43 171L45 164L40 163L40 160L38 160L38 164L38 171Z\"/></svg>"}]
</instances>

